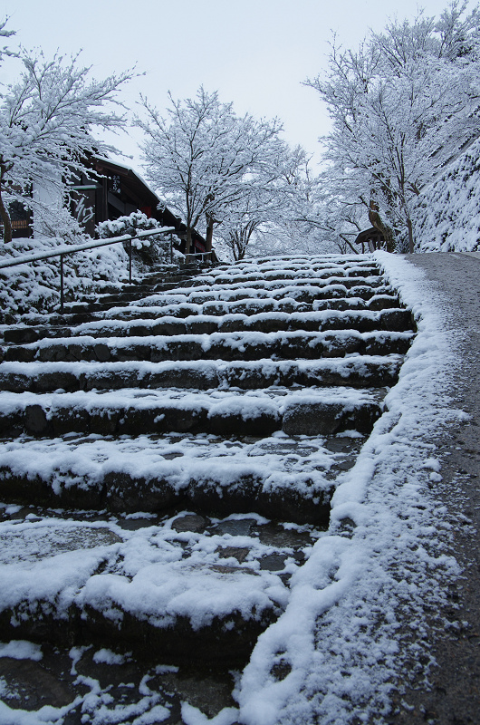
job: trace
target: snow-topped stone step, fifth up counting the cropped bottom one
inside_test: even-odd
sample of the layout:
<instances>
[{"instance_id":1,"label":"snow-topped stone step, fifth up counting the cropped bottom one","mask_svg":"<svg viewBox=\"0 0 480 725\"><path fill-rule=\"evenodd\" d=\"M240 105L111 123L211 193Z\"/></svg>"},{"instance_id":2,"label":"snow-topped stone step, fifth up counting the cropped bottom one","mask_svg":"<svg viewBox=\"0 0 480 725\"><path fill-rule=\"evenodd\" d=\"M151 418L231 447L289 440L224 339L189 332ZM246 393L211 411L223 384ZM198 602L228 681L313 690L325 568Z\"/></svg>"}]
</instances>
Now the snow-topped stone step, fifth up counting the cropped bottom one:
<instances>
[{"instance_id":1,"label":"snow-topped stone step, fifth up counting the cropped bottom one","mask_svg":"<svg viewBox=\"0 0 480 725\"><path fill-rule=\"evenodd\" d=\"M251 362L2 362L0 388L12 392L187 388L259 390L273 385L395 384L403 356L352 355L325 360L270 358Z\"/></svg>"}]
</instances>

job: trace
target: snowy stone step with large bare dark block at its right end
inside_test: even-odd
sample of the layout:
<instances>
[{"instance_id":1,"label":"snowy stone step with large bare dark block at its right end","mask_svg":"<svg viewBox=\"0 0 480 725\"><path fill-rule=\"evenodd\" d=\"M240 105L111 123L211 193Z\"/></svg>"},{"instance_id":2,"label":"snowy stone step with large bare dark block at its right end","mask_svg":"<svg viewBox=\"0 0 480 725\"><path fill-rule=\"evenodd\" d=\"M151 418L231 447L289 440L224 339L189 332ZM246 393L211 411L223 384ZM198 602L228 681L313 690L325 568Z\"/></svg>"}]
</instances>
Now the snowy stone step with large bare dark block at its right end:
<instances>
[{"instance_id":1,"label":"snowy stone step with large bare dark block at its right end","mask_svg":"<svg viewBox=\"0 0 480 725\"><path fill-rule=\"evenodd\" d=\"M68 432L103 436L164 434L172 431L268 437L276 430L293 435L332 435L341 430L370 433L381 414L385 391L287 389L256 395L218 391L124 390L95 393L4 393L0 436L23 433L58 437Z\"/></svg>"}]
</instances>

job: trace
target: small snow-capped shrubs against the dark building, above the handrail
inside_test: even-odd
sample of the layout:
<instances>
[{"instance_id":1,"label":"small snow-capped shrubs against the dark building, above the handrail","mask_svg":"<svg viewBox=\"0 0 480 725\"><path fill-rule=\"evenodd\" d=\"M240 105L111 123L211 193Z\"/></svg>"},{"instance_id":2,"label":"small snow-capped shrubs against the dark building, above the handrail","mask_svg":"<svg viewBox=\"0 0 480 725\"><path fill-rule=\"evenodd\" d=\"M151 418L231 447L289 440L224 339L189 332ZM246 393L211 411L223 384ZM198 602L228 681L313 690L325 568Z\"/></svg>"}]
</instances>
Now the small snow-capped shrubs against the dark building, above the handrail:
<instances>
[{"instance_id":1,"label":"small snow-capped shrubs against the dark building, above the handrail","mask_svg":"<svg viewBox=\"0 0 480 725\"><path fill-rule=\"evenodd\" d=\"M124 234L161 227L157 219L149 218L141 211L134 211L128 217L107 219L96 227L101 239L121 237ZM145 267L157 264L178 263L184 256L170 243L169 235L155 235L144 239L133 239L133 259L137 266Z\"/></svg>"}]
</instances>

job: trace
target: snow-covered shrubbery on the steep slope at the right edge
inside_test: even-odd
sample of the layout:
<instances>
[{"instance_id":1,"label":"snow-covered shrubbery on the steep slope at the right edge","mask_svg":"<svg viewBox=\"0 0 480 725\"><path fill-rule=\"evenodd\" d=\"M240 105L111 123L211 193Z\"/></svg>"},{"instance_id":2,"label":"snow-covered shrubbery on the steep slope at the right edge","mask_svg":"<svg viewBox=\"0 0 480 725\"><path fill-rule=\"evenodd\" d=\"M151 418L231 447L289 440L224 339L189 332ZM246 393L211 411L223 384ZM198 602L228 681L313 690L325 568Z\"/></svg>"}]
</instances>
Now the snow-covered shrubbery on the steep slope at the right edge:
<instances>
[{"instance_id":1,"label":"snow-covered shrubbery on the steep slope at the right edge","mask_svg":"<svg viewBox=\"0 0 480 725\"><path fill-rule=\"evenodd\" d=\"M480 140L422 189L415 217L420 252L480 249Z\"/></svg>"}]
</instances>

